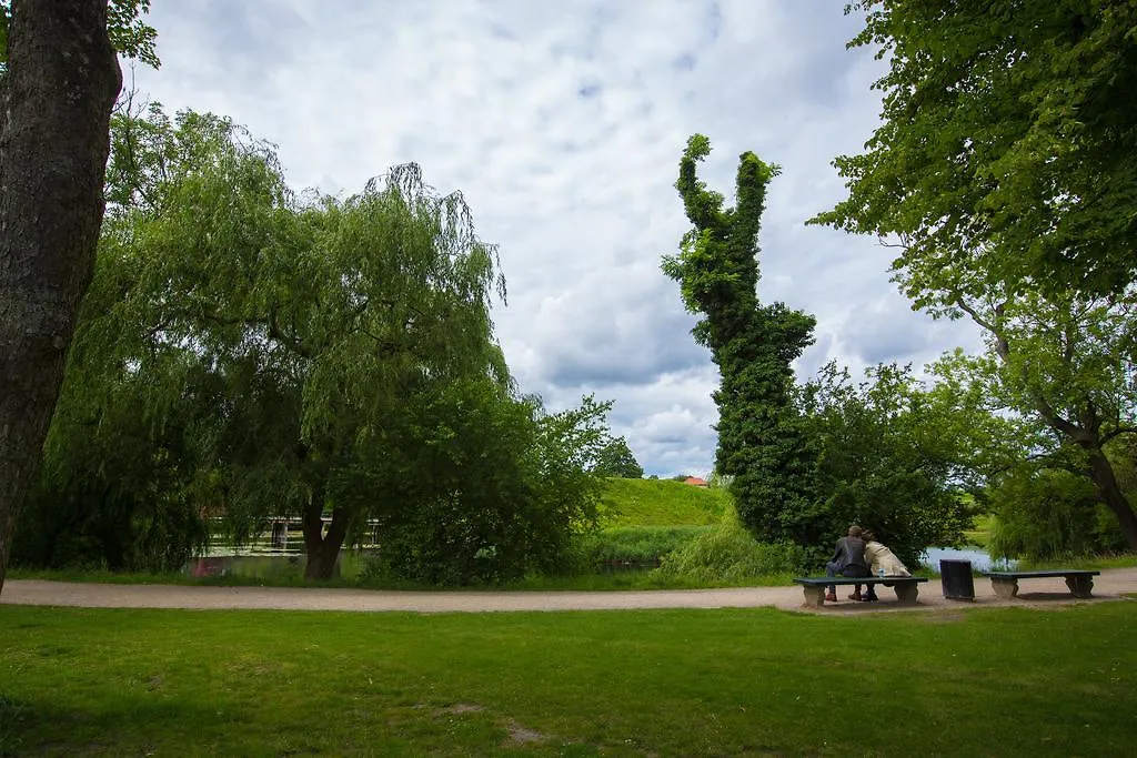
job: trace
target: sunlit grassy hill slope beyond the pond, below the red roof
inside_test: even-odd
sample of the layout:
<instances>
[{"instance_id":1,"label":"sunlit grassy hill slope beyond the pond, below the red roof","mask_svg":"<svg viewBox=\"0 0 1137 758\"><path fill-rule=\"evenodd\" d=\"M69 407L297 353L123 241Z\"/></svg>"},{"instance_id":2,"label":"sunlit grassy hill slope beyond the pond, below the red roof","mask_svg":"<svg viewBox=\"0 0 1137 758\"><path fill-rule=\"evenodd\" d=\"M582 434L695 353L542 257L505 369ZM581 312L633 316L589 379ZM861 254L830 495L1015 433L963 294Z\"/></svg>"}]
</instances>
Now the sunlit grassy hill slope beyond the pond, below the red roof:
<instances>
[{"instance_id":1,"label":"sunlit grassy hill slope beyond the pond, below the red roof","mask_svg":"<svg viewBox=\"0 0 1137 758\"><path fill-rule=\"evenodd\" d=\"M706 526L735 519L735 502L725 490L671 480L609 478L601 502L606 527Z\"/></svg>"}]
</instances>

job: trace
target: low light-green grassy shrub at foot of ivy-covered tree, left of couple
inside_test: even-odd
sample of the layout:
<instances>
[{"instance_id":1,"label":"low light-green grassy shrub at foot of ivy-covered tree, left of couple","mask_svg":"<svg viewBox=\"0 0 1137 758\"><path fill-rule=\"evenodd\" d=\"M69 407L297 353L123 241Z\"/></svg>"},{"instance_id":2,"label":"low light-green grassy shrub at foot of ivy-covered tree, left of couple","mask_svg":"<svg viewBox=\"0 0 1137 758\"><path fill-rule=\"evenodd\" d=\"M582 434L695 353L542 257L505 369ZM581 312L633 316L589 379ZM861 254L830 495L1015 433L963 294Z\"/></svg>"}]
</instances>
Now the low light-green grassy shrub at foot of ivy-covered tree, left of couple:
<instances>
[{"instance_id":1,"label":"low light-green grassy shrub at foot of ivy-covered tree, left of couple","mask_svg":"<svg viewBox=\"0 0 1137 758\"><path fill-rule=\"evenodd\" d=\"M742 580L792 574L804 569L805 550L791 543L761 543L745 528L723 524L707 530L663 556L657 569L700 584L731 584Z\"/></svg>"}]
</instances>

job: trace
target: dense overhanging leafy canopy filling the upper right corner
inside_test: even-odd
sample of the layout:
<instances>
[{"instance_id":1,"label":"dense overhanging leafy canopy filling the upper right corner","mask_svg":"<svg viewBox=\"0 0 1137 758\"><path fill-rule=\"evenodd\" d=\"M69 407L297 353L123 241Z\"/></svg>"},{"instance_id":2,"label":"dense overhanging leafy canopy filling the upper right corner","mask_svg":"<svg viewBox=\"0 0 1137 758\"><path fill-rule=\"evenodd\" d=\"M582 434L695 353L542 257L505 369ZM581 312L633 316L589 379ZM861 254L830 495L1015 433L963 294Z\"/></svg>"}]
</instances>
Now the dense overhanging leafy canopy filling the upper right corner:
<instances>
[{"instance_id":1,"label":"dense overhanging leafy canopy filling the upper right corner","mask_svg":"<svg viewBox=\"0 0 1137 758\"><path fill-rule=\"evenodd\" d=\"M897 235L921 276L1121 292L1137 247L1137 7L862 0L882 125L821 223ZM918 297L916 305L924 302Z\"/></svg>"}]
</instances>

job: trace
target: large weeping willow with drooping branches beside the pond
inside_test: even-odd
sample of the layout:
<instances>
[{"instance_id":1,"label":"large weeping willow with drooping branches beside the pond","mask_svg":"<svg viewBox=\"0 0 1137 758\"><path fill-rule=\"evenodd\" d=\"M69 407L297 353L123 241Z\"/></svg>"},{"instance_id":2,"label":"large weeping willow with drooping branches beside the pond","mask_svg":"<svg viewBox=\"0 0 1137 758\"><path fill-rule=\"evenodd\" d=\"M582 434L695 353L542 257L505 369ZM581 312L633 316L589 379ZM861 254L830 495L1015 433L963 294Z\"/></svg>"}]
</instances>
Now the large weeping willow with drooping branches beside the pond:
<instances>
[{"instance_id":1,"label":"large weeping willow with drooping branches beside the pond","mask_svg":"<svg viewBox=\"0 0 1137 758\"><path fill-rule=\"evenodd\" d=\"M152 107L116 117L107 198L42 489L76 513L101 503L118 542L136 544L171 501L239 534L296 514L307 576L327 577L397 490L383 442L415 399L472 381L508 397L496 250L415 165L301 202L271 145ZM126 455L125 440L157 444ZM185 549L199 539L186 528Z\"/></svg>"}]
</instances>

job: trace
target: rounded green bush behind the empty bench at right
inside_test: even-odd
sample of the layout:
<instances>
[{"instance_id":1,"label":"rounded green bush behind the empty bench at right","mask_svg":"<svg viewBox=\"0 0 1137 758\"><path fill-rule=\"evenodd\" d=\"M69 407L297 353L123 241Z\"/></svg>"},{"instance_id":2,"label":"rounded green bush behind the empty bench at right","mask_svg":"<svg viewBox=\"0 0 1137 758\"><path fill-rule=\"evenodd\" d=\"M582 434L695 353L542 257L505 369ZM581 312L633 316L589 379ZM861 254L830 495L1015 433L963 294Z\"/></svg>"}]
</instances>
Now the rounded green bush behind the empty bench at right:
<instances>
[{"instance_id":1,"label":"rounded green bush behind the empty bench at right","mask_svg":"<svg viewBox=\"0 0 1137 758\"><path fill-rule=\"evenodd\" d=\"M1117 519L1078 474L1022 466L993 490L990 503L995 556L1039 561L1124 548Z\"/></svg>"}]
</instances>

